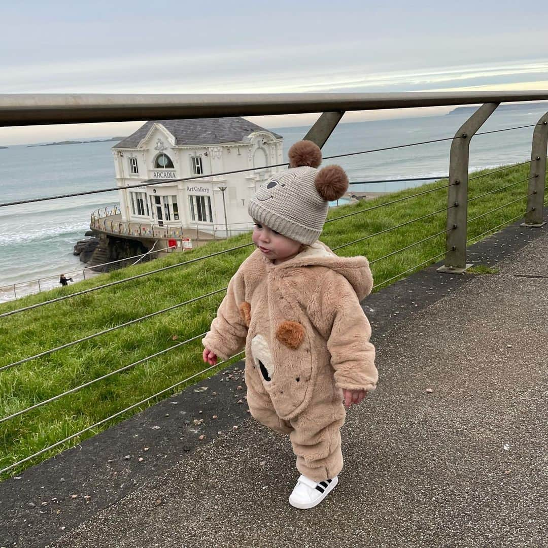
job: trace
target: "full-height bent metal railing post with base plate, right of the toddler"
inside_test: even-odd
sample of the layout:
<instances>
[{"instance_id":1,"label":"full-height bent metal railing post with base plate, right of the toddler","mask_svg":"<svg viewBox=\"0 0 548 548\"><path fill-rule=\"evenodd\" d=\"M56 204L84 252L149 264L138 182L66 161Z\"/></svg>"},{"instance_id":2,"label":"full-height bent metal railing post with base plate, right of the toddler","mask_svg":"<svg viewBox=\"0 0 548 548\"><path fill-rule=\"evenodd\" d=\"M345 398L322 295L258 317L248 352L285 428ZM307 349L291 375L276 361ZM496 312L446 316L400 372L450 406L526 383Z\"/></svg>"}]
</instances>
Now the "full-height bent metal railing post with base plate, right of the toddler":
<instances>
[{"instance_id":1,"label":"full-height bent metal railing post with base plate, right of the toddler","mask_svg":"<svg viewBox=\"0 0 548 548\"><path fill-rule=\"evenodd\" d=\"M455 133L449 159L449 186L447 192L447 237L445 264L438 272L462 274L466 264L466 219L468 214L468 160L470 139L492 115L499 103L479 107Z\"/></svg>"}]
</instances>

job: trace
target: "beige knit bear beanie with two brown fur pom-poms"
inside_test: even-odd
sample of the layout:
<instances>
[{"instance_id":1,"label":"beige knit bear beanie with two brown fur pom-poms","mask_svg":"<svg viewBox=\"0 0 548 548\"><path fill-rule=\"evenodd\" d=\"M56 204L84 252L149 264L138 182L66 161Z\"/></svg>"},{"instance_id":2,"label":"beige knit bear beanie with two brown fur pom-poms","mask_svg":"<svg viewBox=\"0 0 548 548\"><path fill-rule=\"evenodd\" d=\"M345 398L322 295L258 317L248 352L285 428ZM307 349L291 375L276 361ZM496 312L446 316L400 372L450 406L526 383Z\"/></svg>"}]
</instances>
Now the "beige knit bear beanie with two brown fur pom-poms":
<instances>
[{"instance_id":1,"label":"beige knit bear beanie with two brown fur pom-poms","mask_svg":"<svg viewBox=\"0 0 548 548\"><path fill-rule=\"evenodd\" d=\"M318 170L322 152L312 141L298 141L289 149L289 169L272 175L249 201L252 218L283 236L313 244L322 232L329 202L348 189L339 165Z\"/></svg>"}]
</instances>

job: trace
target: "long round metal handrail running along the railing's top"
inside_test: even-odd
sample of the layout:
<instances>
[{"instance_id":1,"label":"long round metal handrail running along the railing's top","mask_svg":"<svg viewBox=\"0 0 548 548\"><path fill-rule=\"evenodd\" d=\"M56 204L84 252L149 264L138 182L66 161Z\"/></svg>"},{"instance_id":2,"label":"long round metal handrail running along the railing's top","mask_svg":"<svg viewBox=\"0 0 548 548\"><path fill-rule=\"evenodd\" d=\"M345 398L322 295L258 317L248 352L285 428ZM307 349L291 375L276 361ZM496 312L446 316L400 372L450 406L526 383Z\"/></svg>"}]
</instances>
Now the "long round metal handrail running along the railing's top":
<instances>
[{"instance_id":1,"label":"long round metal handrail running along the railing's top","mask_svg":"<svg viewBox=\"0 0 548 548\"><path fill-rule=\"evenodd\" d=\"M0 126L407 109L546 99L548 90L420 93L1 94Z\"/></svg>"}]
</instances>

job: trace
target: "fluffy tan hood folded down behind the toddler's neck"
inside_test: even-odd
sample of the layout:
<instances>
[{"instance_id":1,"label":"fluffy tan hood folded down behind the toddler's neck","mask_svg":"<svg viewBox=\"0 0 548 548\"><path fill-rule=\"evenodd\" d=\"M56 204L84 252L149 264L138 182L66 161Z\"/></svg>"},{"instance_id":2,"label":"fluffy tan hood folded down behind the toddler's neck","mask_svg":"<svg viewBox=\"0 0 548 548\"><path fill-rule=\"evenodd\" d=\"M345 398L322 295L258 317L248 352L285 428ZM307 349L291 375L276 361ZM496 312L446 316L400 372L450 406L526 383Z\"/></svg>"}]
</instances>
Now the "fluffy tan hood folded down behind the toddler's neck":
<instances>
[{"instance_id":1,"label":"fluffy tan hood folded down behind the toddler's neck","mask_svg":"<svg viewBox=\"0 0 548 548\"><path fill-rule=\"evenodd\" d=\"M373 276L369 269L369 262L364 256L339 257L319 240L310 246L304 246L304 249L298 255L295 255L293 259L279 265L273 264L270 259L261 254L259 249L256 249L254 253L260 255L261 259L266 262L268 269L283 271L305 266L323 266L334 270L350 282L359 300L369 295L373 288Z\"/></svg>"}]
</instances>

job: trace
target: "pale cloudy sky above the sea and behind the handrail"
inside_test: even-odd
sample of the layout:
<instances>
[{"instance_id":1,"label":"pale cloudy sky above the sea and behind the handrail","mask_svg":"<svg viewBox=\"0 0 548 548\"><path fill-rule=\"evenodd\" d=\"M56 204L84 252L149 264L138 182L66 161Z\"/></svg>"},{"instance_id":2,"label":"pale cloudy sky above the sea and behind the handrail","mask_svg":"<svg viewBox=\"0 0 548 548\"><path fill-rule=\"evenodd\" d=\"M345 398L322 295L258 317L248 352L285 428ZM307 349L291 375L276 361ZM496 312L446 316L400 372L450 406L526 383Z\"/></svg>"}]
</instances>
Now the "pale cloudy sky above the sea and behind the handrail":
<instances>
[{"instance_id":1,"label":"pale cloudy sky above the sea and behind the handrail","mask_svg":"<svg viewBox=\"0 0 548 548\"><path fill-rule=\"evenodd\" d=\"M548 90L548 39L534 24L546 19L548 3L532 12L504 0L3 2L0 94ZM122 136L141 123L0 128L0 145Z\"/></svg>"}]
</instances>

